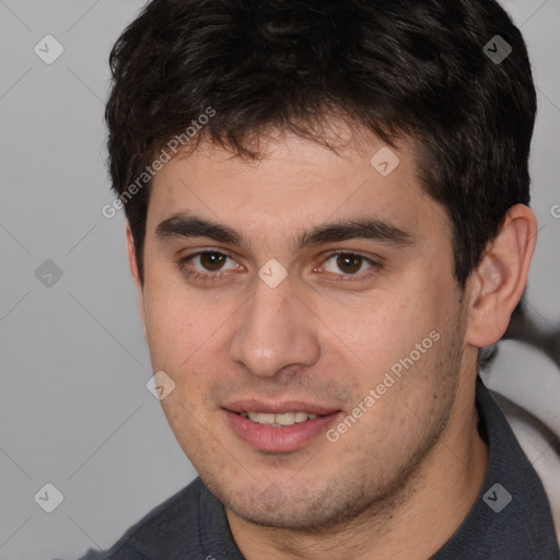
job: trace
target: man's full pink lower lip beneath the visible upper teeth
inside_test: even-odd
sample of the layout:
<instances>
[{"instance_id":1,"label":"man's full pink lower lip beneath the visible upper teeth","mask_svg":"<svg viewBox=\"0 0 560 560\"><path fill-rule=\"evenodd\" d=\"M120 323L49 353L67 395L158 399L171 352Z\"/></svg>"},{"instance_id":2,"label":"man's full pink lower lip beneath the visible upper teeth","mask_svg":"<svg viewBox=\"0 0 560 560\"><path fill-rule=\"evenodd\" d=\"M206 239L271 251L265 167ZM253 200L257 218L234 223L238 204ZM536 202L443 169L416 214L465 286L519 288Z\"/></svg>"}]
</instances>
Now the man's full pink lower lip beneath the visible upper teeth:
<instances>
[{"instance_id":1,"label":"man's full pink lower lip beneath the visible upper teeth","mask_svg":"<svg viewBox=\"0 0 560 560\"><path fill-rule=\"evenodd\" d=\"M293 425L272 428L253 422L236 412L224 410L228 422L235 434L259 451L273 453L295 451L317 435L325 433L341 411L320 416Z\"/></svg>"}]
</instances>

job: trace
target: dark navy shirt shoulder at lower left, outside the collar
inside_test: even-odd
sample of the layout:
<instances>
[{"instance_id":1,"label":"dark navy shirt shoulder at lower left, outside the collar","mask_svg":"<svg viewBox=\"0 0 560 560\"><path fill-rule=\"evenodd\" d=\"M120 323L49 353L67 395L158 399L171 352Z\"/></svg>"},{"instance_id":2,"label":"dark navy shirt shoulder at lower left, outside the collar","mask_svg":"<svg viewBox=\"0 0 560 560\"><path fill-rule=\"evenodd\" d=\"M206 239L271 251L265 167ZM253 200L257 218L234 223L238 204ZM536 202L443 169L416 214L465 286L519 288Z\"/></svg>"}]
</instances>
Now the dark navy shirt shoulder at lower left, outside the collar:
<instances>
[{"instance_id":1,"label":"dark navy shirt shoulder at lower left, outside the collar","mask_svg":"<svg viewBox=\"0 0 560 560\"><path fill-rule=\"evenodd\" d=\"M197 477L129 527L109 550L90 549L80 560L152 560L162 553L171 559L175 551L188 548L196 555L201 491Z\"/></svg>"}]
</instances>

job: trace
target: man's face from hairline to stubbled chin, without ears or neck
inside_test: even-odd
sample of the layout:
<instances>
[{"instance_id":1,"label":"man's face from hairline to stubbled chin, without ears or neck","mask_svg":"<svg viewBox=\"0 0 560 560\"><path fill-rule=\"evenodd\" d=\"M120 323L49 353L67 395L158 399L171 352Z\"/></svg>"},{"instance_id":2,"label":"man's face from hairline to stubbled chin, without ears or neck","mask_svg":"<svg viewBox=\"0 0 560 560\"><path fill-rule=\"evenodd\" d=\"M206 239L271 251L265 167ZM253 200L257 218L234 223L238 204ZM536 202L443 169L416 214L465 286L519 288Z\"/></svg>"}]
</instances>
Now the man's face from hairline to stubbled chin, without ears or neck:
<instances>
[{"instance_id":1,"label":"man's face from hairline to stubbled chin, without ears or neck","mask_svg":"<svg viewBox=\"0 0 560 560\"><path fill-rule=\"evenodd\" d=\"M142 298L153 371L175 383L162 406L247 521L327 526L393 499L456 416L450 223L410 145L383 176L366 140L337 155L285 137L250 163L203 144L154 178ZM194 218L240 238L187 235Z\"/></svg>"}]
</instances>

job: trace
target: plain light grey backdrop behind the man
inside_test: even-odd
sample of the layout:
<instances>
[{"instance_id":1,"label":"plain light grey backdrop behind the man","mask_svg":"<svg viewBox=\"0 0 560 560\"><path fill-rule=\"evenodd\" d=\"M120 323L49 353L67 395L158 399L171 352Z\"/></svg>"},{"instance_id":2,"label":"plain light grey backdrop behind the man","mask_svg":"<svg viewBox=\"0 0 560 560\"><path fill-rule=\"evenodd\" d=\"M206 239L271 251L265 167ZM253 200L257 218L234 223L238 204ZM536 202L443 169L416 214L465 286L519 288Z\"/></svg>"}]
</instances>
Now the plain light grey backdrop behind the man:
<instances>
[{"instance_id":1,"label":"plain light grey backdrop behind the man","mask_svg":"<svg viewBox=\"0 0 560 560\"><path fill-rule=\"evenodd\" d=\"M0 0L0 560L106 548L195 476L145 388L152 372L122 214L101 212L113 201L107 57L142 5ZM560 324L560 219L551 214L560 205L560 1L503 5L528 43L538 89L532 206L540 233L528 306L551 331ZM47 34L65 48L52 65L34 52ZM52 285L35 275L47 259L62 271ZM34 501L46 482L65 497L50 514Z\"/></svg>"}]
</instances>

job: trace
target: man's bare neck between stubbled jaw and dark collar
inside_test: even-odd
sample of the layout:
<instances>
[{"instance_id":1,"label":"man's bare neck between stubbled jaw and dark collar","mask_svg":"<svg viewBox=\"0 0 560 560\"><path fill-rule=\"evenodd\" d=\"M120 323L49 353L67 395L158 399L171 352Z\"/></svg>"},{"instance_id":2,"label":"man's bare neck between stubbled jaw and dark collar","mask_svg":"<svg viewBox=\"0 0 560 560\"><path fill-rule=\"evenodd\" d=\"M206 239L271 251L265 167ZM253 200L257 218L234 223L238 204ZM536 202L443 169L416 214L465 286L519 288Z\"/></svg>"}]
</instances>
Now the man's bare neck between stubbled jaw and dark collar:
<instances>
[{"instance_id":1,"label":"man's bare neck between stubbled jaw and dark collar","mask_svg":"<svg viewBox=\"0 0 560 560\"><path fill-rule=\"evenodd\" d=\"M246 560L423 560L460 526L480 492L488 446L480 438L474 405L475 380L463 387L447 430L390 502L372 504L336 527L301 533L260 527L228 511L237 547Z\"/></svg>"}]
</instances>

